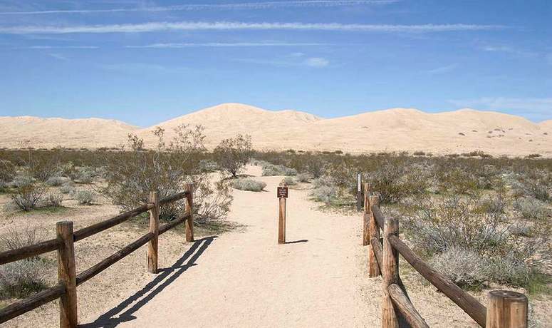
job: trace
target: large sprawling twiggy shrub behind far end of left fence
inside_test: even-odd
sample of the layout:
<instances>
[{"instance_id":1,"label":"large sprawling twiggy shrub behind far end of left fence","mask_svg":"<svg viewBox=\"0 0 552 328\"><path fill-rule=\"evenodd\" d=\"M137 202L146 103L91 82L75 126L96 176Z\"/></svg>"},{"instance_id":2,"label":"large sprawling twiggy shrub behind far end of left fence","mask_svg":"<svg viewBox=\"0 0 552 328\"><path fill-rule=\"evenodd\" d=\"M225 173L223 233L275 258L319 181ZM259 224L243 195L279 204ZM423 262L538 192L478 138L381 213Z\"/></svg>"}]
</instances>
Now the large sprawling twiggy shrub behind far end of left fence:
<instances>
[{"instance_id":1,"label":"large sprawling twiggy shrub behind far end of left fence","mask_svg":"<svg viewBox=\"0 0 552 328\"><path fill-rule=\"evenodd\" d=\"M103 195L122 210L131 210L147 203L152 190L157 190L159 197L164 198L181 192L186 183L194 183L197 190L194 210L199 211L198 214L203 211L203 217L208 217L207 212L217 212L219 217L225 215L231 202L227 197L228 188L222 188L224 184L213 186L209 173L199 166L199 161L204 160L202 153L205 150L202 128L189 129L187 125L179 125L168 145L164 130L158 128L154 134L157 136L154 150L142 150L143 140L129 135L127 151L105 156L108 185L103 188ZM164 205L160 216L164 220L179 217L184 206L184 200ZM215 207L219 207L218 211L214 210Z\"/></svg>"}]
</instances>

